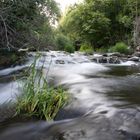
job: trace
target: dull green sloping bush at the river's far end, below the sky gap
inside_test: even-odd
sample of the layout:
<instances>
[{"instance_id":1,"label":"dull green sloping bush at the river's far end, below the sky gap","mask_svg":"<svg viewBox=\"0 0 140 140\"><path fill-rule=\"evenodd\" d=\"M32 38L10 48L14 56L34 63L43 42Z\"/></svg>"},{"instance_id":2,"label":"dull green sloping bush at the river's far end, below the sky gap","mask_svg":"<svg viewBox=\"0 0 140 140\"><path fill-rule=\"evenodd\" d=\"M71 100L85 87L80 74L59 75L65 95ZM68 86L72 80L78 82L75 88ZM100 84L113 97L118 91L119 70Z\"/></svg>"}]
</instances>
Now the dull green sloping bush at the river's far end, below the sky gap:
<instances>
[{"instance_id":1,"label":"dull green sloping bush at the river's far end, below the sky gap","mask_svg":"<svg viewBox=\"0 0 140 140\"><path fill-rule=\"evenodd\" d=\"M56 46L58 50L64 50L70 53L74 52L75 50L72 41L63 34L57 34Z\"/></svg>"}]
</instances>

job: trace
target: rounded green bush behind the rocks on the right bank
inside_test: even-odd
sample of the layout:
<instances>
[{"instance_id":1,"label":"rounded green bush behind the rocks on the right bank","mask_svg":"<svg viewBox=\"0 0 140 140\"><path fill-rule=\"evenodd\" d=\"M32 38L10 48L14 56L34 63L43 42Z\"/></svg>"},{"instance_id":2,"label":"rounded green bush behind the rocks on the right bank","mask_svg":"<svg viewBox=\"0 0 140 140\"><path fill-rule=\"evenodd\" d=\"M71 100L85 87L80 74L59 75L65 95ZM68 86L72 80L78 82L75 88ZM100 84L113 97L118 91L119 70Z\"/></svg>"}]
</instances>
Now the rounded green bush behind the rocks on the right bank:
<instances>
[{"instance_id":1,"label":"rounded green bush behind the rocks on the right bank","mask_svg":"<svg viewBox=\"0 0 140 140\"><path fill-rule=\"evenodd\" d=\"M118 42L115 46L109 49L109 52L119 52L123 54L128 54L128 46L124 42Z\"/></svg>"}]
</instances>

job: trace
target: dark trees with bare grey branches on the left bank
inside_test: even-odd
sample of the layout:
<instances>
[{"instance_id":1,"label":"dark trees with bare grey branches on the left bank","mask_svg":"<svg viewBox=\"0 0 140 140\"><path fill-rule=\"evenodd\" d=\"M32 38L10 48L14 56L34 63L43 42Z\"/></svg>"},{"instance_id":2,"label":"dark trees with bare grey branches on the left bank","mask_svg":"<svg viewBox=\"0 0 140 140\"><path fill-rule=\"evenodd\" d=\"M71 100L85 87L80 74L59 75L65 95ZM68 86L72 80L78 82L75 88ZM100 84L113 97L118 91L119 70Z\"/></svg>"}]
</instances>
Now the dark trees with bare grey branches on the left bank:
<instances>
[{"instance_id":1,"label":"dark trees with bare grey branches on the left bank","mask_svg":"<svg viewBox=\"0 0 140 140\"><path fill-rule=\"evenodd\" d=\"M0 48L53 46L52 25L59 17L54 0L0 0Z\"/></svg>"}]
</instances>

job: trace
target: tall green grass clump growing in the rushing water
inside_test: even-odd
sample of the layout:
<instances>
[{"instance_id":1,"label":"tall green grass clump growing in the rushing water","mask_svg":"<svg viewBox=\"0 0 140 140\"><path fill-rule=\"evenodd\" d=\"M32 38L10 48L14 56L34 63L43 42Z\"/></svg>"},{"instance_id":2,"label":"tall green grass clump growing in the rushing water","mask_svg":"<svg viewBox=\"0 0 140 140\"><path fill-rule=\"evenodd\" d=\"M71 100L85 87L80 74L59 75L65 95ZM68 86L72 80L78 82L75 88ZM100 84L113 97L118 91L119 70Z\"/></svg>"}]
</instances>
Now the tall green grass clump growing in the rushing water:
<instances>
[{"instance_id":1,"label":"tall green grass clump growing in the rushing water","mask_svg":"<svg viewBox=\"0 0 140 140\"><path fill-rule=\"evenodd\" d=\"M15 115L53 120L68 100L66 91L61 87L49 87L42 70L39 73L35 70L35 63L29 73L23 86L23 94L17 98Z\"/></svg>"}]
</instances>

